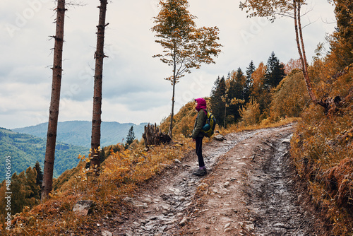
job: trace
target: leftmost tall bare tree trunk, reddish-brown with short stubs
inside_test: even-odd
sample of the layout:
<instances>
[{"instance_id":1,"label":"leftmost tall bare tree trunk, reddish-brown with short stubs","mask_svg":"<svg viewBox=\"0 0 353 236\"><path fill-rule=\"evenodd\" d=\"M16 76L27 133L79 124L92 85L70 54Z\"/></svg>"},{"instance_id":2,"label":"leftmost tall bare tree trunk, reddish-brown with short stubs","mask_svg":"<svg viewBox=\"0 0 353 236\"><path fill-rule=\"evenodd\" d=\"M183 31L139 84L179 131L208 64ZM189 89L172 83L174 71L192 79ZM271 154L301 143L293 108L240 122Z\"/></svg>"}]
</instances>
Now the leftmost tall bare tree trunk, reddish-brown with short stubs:
<instances>
[{"instance_id":1,"label":"leftmost tall bare tree trunk, reddish-brown with short stubs","mask_svg":"<svg viewBox=\"0 0 353 236\"><path fill-rule=\"evenodd\" d=\"M56 129L59 117L59 102L61 89L62 54L64 43L64 18L65 0L58 0L56 8L56 33L54 39L54 62L52 80L52 98L49 108L49 122L47 131L47 146L45 149L43 182L41 199L44 201L49 196L53 188L53 169L55 159Z\"/></svg>"}]
</instances>

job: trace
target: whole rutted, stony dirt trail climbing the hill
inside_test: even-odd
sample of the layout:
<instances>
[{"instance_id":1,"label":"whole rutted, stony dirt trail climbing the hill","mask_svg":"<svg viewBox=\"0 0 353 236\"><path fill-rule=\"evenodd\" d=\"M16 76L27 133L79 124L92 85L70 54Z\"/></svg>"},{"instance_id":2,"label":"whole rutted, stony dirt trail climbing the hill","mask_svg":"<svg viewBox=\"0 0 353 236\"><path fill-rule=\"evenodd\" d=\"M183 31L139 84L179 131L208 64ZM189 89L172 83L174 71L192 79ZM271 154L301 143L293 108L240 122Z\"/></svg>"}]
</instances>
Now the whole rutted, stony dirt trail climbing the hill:
<instances>
[{"instance_id":1,"label":"whole rutted, stony dirt trail climbing the hill","mask_svg":"<svg viewBox=\"0 0 353 236\"><path fill-rule=\"evenodd\" d=\"M289 158L294 126L228 134L203 147L208 175L194 177L196 154L175 160L99 235L326 235L297 184ZM103 220L104 221L104 220Z\"/></svg>"}]
</instances>

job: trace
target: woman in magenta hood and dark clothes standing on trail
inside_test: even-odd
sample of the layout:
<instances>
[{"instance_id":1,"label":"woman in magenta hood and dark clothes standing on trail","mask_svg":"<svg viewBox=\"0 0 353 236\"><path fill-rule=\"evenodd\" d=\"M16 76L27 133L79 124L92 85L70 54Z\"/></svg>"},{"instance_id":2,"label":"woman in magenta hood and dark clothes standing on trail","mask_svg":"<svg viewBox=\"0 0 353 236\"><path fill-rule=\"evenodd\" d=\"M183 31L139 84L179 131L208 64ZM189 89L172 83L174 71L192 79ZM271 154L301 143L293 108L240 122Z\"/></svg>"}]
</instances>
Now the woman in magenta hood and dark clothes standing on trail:
<instances>
[{"instance_id":1,"label":"woman in magenta hood and dark clothes standing on trail","mask_svg":"<svg viewBox=\"0 0 353 236\"><path fill-rule=\"evenodd\" d=\"M193 138L193 141L196 142L196 155L198 155L198 170L196 170L196 172L193 172L193 175L203 176L207 174L207 171L202 156L202 140L204 135L201 132L201 129L205 124L205 120L207 119L207 104L205 99L203 98L196 98L195 101L197 102L195 108L198 111L198 116L196 117L195 125L193 126L193 134L191 135L191 138Z\"/></svg>"}]
</instances>

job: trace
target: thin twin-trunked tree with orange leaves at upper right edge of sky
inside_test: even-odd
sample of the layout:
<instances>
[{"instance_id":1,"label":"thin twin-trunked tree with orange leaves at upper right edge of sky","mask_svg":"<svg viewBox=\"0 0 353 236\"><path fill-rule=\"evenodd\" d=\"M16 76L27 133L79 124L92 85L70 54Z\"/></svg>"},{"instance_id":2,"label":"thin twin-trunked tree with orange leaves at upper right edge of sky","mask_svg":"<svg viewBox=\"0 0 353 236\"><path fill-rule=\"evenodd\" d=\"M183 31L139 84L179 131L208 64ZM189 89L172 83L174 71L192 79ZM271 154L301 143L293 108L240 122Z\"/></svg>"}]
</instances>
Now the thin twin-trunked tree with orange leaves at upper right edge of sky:
<instances>
[{"instance_id":1,"label":"thin twin-trunked tree with orange leaves at upper right edge of sky","mask_svg":"<svg viewBox=\"0 0 353 236\"><path fill-rule=\"evenodd\" d=\"M308 61L306 59L306 52L304 47L304 37L301 27L301 7L306 5L306 0L291 0L291 1L277 1L277 0L245 0L240 2L240 8L242 10L247 9L246 12L251 11L248 17L259 16L266 17L272 22L277 16L289 16L294 19L294 30L297 41L297 48L299 58L301 60L302 71L304 74L304 80L306 83L306 89L308 90L311 100L323 107L328 108L328 104L319 101L316 98L316 94L313 91L311 80L308 73Z\"/></svg>"}]
</instances>

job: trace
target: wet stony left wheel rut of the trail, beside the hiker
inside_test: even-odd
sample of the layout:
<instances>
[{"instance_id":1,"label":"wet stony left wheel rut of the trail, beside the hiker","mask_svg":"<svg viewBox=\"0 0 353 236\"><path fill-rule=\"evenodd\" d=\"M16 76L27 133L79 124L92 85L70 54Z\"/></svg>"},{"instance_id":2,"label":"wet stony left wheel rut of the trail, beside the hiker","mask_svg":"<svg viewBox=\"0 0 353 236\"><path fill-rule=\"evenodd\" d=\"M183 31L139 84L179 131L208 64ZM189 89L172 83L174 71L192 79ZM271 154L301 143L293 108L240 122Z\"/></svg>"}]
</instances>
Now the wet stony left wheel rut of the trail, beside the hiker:
<instances>
[{"instance_id":1,"label":"wet stony left wheel rut of the trail, beside the hiker","mask_svg":"<svg viewBox=\"0 0 353 236\"><path fill-rule=\"evenodd\" d=\"M213 172L221 155L261 131L227 134L225 141L205 143L203 153L209 172ZM179 228L182 220L188 216L187 209L193 203L196 189L203 180L202 177L191 175L197 166L197 158L192 151L183 160L176 160L173 165L166 167L164 173L148 183L143 191L125 199L134 206L133 211L117 218L121 222L119 226L110 226L107 230L125 236L175 235L173 230Z\"/></svg>"}]
</instances>

